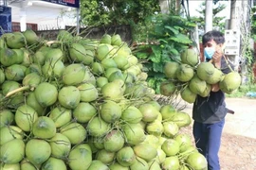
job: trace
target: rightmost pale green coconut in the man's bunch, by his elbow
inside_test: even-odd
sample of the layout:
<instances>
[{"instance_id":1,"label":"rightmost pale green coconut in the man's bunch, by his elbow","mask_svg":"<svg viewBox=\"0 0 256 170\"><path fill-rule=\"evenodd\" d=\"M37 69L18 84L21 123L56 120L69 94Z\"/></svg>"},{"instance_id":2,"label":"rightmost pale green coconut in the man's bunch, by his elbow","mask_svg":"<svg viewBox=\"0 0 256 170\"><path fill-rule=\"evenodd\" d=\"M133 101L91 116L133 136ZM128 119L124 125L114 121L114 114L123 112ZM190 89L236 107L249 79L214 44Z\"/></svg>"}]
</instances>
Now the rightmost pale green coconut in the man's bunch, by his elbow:
<instances>
[{"instance_id":1,"label":"rightmost pale green coconut in the man's bunch, by his elbow","mask_svg":"<svg viewBox=\"0 0 256 170\"><path fill-rule=\"evenodd\" d=\"M240 87L241 82L242 78L239 73L230 72L220 81L220 89L225 93L232 93Z\"/></svg>"}]
</instances>

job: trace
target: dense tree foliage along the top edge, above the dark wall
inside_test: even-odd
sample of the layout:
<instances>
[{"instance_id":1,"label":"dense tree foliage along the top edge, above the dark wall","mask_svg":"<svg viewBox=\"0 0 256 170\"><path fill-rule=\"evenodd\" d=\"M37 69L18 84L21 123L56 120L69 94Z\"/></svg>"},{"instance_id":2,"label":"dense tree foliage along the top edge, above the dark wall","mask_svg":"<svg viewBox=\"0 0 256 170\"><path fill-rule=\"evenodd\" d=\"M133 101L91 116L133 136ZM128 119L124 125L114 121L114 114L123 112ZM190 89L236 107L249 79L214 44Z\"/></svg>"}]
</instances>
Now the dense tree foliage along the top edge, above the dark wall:
<instances>
[{"instance_id":1,"label":"dense tree foliage along the top edge, above the dark wall","mask_svg":"<svg viewBox=\"0 0 256 170\"><path fill-rule=\"evenodd\" d=\"M135 24L160 11L158 0L81 0L84 26Z\"/></svg>"}]
</instances>

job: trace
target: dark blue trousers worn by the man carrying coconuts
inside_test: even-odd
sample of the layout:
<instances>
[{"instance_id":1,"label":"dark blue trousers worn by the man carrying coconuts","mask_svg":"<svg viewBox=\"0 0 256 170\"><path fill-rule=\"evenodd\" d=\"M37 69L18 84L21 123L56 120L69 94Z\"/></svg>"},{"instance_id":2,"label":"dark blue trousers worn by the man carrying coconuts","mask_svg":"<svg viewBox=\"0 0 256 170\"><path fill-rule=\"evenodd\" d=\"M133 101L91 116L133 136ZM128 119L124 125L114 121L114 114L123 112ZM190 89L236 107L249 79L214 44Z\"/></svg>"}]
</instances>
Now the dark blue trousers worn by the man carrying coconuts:
<instances>
[{"instance_id":1,"label":"dark blue trousers worn by the man carrying coconuts","mask_svg":"<svg viewBox=\"0 0 256 170\"><path fill-rule=\"evenodd\" d=\"M225 120L214 124L193 123L193 137L198 151L208 161L208 170L220 170L218 152Z\"/></svg>"}]
</instances>

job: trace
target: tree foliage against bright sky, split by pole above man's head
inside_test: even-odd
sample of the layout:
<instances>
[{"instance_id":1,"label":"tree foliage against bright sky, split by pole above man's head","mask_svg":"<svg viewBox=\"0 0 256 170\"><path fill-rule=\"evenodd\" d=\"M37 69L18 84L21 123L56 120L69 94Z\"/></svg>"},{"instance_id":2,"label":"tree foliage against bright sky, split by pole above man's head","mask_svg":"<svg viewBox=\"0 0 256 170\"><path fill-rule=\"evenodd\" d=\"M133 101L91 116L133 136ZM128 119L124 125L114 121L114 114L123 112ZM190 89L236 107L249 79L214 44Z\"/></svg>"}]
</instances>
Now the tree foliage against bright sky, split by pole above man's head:
<instances>
[{"instance_id":1,"label":"tree foliage against bright sky, split by pole above man's head","mask_svg":"<svg viewBox=\"0 0 256 170\"><path fill-rule=\"evenodd\" d=\"M225 16L217 16L221 11L223 11L226 8L225 4L216 3L216 5L212 9L213 14L213 20L212 20L212 26L214 29L217 29L221 32L224 32L225 30ZM204 32L205 30L205 12L206 12L206 3L202 3L199 7L199 9L196 9L196 11L200 14L199 17L191 17L192 22L195 22L198 26L198 29L201 32Z\"/></svg>"}]
</instances>

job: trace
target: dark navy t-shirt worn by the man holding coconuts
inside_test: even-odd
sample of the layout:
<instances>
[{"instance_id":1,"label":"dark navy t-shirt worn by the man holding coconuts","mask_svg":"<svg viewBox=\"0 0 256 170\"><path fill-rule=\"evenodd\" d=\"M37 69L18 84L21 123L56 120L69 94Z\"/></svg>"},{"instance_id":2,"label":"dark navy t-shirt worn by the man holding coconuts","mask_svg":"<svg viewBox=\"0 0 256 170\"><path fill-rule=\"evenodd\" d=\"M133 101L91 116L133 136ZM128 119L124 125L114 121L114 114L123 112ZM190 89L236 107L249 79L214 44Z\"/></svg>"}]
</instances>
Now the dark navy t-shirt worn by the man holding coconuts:
<instances>
[{"instance_id":1,"label":"dark navy t-shirt worn by the man holding coconuts","mask_svg":"<svg viewBox=\"0 0 256 170\"><path fill-rule=\"evenodd\" d=\"M221 59L221 71L224 74L229 74L233 65L230 61L227 64L226 59L223 57ZM216 122L222 121L226 114L227 108L225 103L225 93L221 90L218 92L211 92L207 97L202 97L197 95L195 102L192 107L192 118L196 122L204 124L214 124Z\"/></svg>"}]
</instances>

